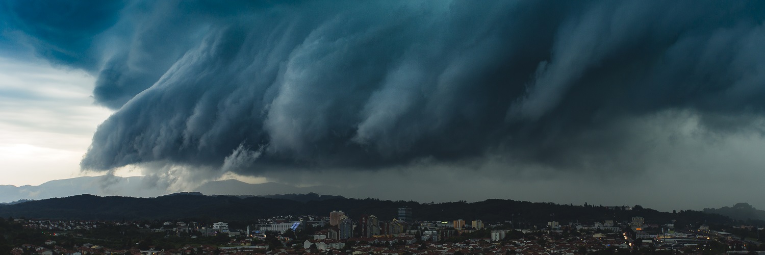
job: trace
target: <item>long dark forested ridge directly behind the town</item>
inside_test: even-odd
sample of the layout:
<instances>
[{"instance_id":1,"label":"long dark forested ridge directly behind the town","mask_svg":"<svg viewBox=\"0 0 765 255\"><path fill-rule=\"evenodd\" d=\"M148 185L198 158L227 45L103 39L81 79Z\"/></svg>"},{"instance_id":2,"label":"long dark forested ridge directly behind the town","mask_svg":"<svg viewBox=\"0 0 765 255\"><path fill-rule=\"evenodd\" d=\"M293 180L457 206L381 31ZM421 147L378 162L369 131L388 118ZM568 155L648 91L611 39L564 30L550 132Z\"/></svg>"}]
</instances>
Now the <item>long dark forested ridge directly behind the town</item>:
<instances>
[{"instance_id":1,"label":"long dark forested ridge directly behind the town","mask_svg":"<svg viewBox=\"0 0 765 255\"><path fill-rule=\"evenodd\" d=\"M47 218L60 220L174 220L252 221L278 215L329 215L330 211L345 211L351 218L374 214L382 221L396 217L397 209L412 208L414 220L487 222L511 221L524 224L544 224L555 220L568 222L629 221L633 216L646 223L666 224L672 220L678 226L704 223L731 223L731 218L702 211L659 212L636 206L631 211L614 211L598 206L532 203L490 199L474 203L448 202L420 204L414 201L381 201L378 199L333 198L323 201L294 201L279 198L238 198L234 196L169 195L158 198L99 197L77 195L50 198L21 204L0 206L0 217ZM743 223L743 222L742 222Z\"/></svg>"}]
</instances>

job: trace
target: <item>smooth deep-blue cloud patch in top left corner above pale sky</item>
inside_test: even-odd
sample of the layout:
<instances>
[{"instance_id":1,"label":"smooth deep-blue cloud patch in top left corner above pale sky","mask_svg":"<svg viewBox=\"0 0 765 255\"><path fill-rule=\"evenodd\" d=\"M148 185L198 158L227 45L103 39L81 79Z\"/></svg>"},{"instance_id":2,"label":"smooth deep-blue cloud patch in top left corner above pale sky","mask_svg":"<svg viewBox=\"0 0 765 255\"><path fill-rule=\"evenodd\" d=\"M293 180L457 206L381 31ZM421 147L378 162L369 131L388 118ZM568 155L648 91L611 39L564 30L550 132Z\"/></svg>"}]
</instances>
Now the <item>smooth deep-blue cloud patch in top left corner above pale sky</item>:
<instances>
[{"instance_id":1,"label":"smooth deep-blue cloud patch in top left corner above pale sky","mask_svg":"<svg viewBox=\"0 0 765 255\"><path fill-rule=\"evenodd\" d=\"M0 2L3 37L19 40L55 64L93 70L99 63L96 38L119 19L121 1L9 0Z\"/></svg>"}]
</instances>

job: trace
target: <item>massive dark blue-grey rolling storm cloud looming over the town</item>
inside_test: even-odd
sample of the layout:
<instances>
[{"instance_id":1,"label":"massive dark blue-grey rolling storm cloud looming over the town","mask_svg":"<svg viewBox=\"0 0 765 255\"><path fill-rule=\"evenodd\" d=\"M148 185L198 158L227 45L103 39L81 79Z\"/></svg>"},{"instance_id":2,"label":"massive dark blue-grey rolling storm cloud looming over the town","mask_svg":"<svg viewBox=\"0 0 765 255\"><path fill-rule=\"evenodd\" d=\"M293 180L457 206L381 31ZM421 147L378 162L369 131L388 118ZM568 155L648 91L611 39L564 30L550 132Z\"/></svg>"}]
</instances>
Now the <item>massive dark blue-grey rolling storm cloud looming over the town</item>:
<instances>
[{"instance_id":1,"label":"massive dark blue-grey rolling storm cloud looming over the town","mask_svg":"<svg viewBox=\"0 0 765 255\"><path fill-rule=\"evenodd\" d=\"M82 161L94 170L488 153L618 168L651 148L624 119L689 110L724 131L765 106L761 2L131 2L47 37L28 2L5 5L44 57L98 63L96 100L119 110Z\"/></svg>"}]
</instances>

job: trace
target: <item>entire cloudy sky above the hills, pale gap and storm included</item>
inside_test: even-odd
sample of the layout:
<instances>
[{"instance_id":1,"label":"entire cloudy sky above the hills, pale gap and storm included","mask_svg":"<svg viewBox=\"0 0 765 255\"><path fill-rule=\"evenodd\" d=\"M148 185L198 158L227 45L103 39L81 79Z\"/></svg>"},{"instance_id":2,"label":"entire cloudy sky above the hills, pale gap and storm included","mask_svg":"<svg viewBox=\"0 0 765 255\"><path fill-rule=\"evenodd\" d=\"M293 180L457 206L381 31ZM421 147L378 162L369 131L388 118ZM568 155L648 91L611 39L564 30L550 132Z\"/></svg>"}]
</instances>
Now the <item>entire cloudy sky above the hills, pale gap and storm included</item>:
<instances>
[{"instance_id":1,"label":"entire cloudy sky above the hills, pale gap and storm included","mask_svg":"<svg viewBox=\"0 0 765 255\"><path fill-rule=\"evenodd\" d=\"M2 184L765 208L763 2L0 3Z\"/></svg>"}]
</instances>

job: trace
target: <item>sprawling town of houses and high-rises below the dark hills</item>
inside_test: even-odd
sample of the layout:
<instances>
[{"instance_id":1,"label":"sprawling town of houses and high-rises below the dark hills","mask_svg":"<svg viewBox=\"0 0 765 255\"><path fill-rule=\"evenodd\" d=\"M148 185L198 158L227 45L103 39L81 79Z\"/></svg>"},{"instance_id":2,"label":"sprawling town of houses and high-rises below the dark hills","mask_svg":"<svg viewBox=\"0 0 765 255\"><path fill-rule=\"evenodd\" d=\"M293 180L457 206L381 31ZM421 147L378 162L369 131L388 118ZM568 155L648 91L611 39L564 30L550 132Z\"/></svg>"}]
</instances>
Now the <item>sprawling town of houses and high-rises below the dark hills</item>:
<instances>
[{"instance_id":1,"label":"sprawling town of houses and high-rises below the dark hills","mask_svg":"<svg viewBox=\"0 0 765 255\"><path fill-rule=\"evenodd\" d=\"M629 207L615 208L630 210ZM251 223L200 221L53 221L2 219L15 230L14 255L90 254L765 254L762 227L675 226L643 217L631 221L529 223L480 219L415 221L412 208L396 218L285 215ZM445 219L444 219L445 220ZM2 247L2 244L0 244Z\"/></svg>"}]
</instances>

